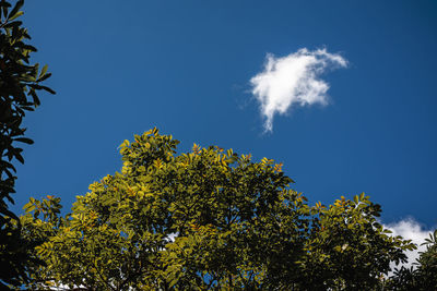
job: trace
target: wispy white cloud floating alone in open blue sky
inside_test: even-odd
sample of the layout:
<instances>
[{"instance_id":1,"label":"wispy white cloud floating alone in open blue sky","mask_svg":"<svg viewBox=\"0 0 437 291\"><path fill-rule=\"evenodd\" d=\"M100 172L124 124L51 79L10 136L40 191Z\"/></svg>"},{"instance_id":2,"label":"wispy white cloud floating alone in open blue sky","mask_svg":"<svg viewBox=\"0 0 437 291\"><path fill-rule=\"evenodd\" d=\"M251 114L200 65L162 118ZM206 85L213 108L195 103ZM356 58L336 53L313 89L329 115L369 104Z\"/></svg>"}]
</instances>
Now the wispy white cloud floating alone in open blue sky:
<instances>
[{"instance_id":1,"label":"wispy white cloud floating alone in open blue sky","mask_svg":"<svg viewBox=\"0 0 437 291\"><path fill-rule=\"evenodd\" d=\"M271 132L274 114L284 114L294 105L326 105L329 84L319 76L327 69L341 66L347 66L347 61L326 49L303 48L283 58L269 53L263 71L250 80L251 93L265 119L264 130Z\"/></svg>"}]
</instances>

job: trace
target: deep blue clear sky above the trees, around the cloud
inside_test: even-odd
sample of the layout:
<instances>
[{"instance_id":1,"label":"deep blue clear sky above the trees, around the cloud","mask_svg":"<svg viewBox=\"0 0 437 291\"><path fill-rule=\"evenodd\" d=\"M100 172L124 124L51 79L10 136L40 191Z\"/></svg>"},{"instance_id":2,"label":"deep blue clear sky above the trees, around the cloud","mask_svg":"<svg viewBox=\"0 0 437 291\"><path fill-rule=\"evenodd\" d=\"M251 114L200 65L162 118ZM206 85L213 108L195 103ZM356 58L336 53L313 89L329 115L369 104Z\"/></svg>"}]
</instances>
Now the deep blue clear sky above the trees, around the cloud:
<instances>
[{"instance_id":1,"label":"deep blue clear sky above the trees, around the cloud","mask_svg":"<svg viewBox=\"0 0 437 291\"><path fill-rule=\"evenodd\" d=\"M365 192L382 220L437 225L436 1L27 0L24 25L56 96L26 117L19 211L120 168L118 145L157 126L181 141L284 162L311 203ZM276 116L250 94L267 53L326 48L328 106Z\"/></svg>"}]
</instances>

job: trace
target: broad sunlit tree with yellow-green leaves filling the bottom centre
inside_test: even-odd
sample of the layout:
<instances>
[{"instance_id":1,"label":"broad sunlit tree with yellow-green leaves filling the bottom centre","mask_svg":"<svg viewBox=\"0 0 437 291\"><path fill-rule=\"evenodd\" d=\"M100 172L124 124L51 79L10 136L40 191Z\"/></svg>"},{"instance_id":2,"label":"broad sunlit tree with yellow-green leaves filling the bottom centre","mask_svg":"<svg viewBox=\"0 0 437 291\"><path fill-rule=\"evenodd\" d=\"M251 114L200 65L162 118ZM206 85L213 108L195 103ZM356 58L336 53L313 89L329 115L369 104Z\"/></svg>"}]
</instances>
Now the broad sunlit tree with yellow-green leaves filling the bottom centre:
<instances>
[{"instance_id":1,"label":"broad sunlit tree with yellow-green leaves filling the bottom centre","mask_svg":"<svg viewBox=\"0 0 437 291\"><path fill-rule=\"evenodd\" d=\"M46 266L28 286L370 290L411 247L377 225L380 208L364 195L310 207L281 163L196 144L177 155L178 143L156 129L125 141L121 172L64 217L59 198L31 199L21 220L26 238L45 241L33 255Z\"/></svg>"}]
</instances>

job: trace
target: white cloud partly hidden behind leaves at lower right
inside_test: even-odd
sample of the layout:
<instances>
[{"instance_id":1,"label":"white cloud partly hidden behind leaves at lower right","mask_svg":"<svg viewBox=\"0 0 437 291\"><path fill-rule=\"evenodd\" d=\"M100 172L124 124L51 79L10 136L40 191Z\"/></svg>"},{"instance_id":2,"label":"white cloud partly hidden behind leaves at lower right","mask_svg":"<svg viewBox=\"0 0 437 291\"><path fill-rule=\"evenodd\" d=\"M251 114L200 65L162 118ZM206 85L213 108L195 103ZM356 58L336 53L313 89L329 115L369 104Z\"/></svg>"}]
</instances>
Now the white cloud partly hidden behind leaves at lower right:
<instances>
[{"instance_id":1,"label":"white cloud partly hidden behind leaves at lower right","mask_svg":"<svg viewBox=\"0 0 437 291\"><path fill-rule=\"evenodd\" d=\"M411 240L418 246L415 251L405 252L406 256L409 257L409 263L404 264L404 266L408 268L414 266L413 263L416 262L416 258L420 256L418 252L424 252L426 250L426 246L421 244L425 242L425 239L429 238L432 230L423 229L423 227L412 218L408 218L394 223L383 225L383 227L390 229L392 231L392 235L401 235L403 239ZM398 266L398 268L400 266Z\"/></svg>"}]
</instances>

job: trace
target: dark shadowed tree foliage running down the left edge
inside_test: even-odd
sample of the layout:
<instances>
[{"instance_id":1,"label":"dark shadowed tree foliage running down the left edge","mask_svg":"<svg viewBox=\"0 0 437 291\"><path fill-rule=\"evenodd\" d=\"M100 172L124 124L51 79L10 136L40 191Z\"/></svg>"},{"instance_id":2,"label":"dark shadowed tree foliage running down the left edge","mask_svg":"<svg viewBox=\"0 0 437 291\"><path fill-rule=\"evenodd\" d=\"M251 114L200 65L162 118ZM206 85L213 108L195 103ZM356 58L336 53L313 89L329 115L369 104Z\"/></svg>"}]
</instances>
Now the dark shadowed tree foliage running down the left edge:
<instances>
[{"instance_id":1,"label":"dark shadowed tree foliage running down the left edge","mask_svg":"<svg viewBox=\"0 0 437 291\"><path fill-rule=\"evenodd\" d=\"M29 63L31 52L36 48L26 44L31 39L27 29L16 19L23 0L12 8L0 1L0 287L19 284L26 278L27 250L32 247L21 237L19 218L9 210L8 202L14 203L15 168L13 160L24 162L23 149L16 143L32 144L24 137L22 121L26 111L39 105L38 90L55 93L40 85L50 76L47 66ZM11 9L12 8L12 9Z\"/></svg>"}]
</instances>

